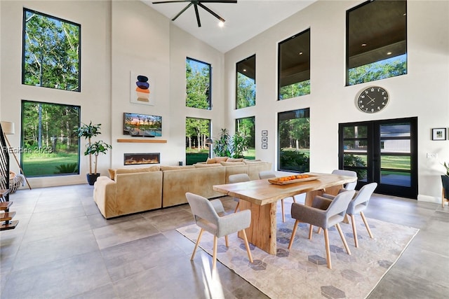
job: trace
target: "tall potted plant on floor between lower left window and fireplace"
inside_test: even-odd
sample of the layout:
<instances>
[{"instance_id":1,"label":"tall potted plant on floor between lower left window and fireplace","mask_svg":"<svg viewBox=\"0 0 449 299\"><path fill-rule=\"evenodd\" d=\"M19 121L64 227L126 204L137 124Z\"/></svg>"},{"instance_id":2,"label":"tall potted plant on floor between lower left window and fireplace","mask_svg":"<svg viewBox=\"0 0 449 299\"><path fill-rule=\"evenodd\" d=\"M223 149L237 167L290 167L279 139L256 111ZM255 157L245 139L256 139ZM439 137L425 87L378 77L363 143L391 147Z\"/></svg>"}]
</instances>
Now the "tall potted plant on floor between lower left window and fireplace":
<instances>
[{"instance_id":1,"label":"tall potted plant on floor between lower left window and fireplace","mask_svg":"<svg viewBox=\"0 0 449 299\"><path fill-rule=\"evenodd\" d=\"M95 181L97 181L98 176L100 176L100 174L97 173L98 155L100 155L100 153L106 153L109 148L112 148L112 146L107 144L105 141L102 140L95 142L92 141L93 137L96 137L99 134L101 134L100 127L101 127L100 123L98 125L93 125L91 121L88 125L83 123L81 127L75 128L76 135L79 138L83 137L85 140L87 140L86 151L84 151L84 155L89 156L89 173L86 174L86 176L87 181L91 186L93 185L93 183L95 183ZM95 168L93 172L92 172L92 155L95 156Z\"/></svg>"}]
</instances>

